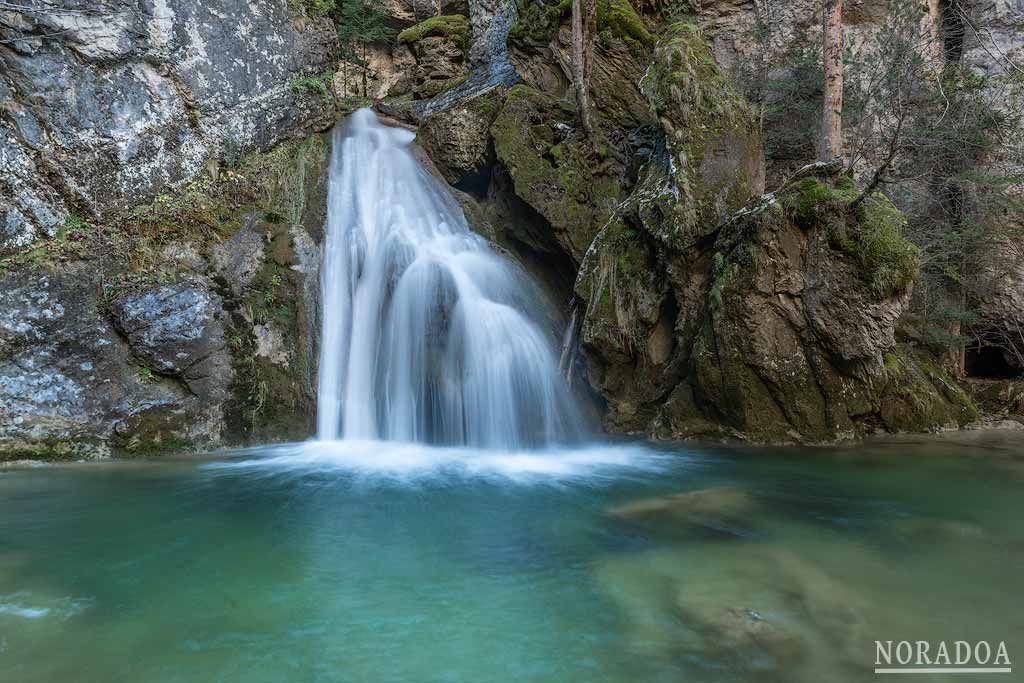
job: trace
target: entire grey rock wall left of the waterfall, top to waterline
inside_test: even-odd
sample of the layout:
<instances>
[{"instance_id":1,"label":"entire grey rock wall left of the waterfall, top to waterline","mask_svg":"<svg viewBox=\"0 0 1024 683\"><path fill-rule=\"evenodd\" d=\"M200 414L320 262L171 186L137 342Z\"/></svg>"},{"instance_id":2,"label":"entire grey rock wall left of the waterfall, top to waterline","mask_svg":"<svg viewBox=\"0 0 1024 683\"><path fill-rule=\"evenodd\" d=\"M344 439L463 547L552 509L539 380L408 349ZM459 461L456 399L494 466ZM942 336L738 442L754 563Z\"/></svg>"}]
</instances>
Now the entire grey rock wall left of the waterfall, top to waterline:
<instances>
[{"instance_id":1,"label":"entire grey rock wall left of the waterfall, top to waterline","mask_svg":"<svg viewBox=\"0 0 1024 683\"><path fill-rule=\"evenodd\" d=\"M331 22L285 2L0 9L0 452L308 433Z\"/></svg>"}]
</instances>

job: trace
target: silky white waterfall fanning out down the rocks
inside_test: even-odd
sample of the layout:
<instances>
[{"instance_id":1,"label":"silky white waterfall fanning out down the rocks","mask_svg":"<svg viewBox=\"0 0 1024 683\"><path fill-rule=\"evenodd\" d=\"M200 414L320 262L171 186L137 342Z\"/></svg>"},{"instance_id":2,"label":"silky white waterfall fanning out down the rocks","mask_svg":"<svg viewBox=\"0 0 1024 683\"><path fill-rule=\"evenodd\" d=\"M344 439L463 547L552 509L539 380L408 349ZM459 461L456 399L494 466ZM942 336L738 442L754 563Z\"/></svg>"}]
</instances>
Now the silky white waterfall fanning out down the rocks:
<instances>
[{"instance_id":1,"label":"silky white waterfall fanning out down the rocks","mask_svg":"<svg viewBox=\"0 0 1024 683\"><path fill-rule=\"evenodd\" d=\"M317 436L483 447L578 435L526 278L410 150L355 112L334 132Z\"/></svg>"}]
</instances>

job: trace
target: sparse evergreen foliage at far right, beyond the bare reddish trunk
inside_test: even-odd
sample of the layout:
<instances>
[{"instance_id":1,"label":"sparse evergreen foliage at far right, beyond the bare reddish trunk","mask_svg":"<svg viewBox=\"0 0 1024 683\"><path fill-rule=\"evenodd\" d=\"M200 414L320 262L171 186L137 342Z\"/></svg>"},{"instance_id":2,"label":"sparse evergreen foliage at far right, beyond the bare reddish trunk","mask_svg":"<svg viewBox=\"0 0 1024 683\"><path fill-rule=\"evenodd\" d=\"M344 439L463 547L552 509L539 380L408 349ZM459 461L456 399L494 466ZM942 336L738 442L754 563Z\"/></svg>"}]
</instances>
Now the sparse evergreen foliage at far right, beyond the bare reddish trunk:
<instances>
[{"instance_id":1,"label":"sparse evergreen foliage at far right, beyond the bare reddish trunk","mask_svg":"<svg viewBox=\"0 0 1024 683\"><path fill-rule=\"evenodd\" d=\"M1001 287L999 245L1024 240L1022 178L1007 170L1024 166L1021 75L974 73L948 50L953 60L937 63L928 39L913 8L894 3L878 43L854 55L844 110L853 161L874 166L922 248L923 340L956 349L968 333L1024 357L1018 331L979 314Z\"/></svg>"}]
</instances>

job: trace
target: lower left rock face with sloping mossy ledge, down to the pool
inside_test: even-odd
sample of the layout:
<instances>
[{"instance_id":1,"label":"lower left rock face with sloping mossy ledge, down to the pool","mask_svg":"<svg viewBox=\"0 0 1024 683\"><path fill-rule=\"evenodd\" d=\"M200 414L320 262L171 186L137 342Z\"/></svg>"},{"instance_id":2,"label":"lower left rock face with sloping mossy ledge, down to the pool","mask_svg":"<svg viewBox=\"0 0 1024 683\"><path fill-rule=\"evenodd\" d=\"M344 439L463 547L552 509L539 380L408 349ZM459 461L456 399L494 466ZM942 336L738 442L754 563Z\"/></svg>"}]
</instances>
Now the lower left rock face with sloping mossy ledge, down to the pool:
<instances>
[{"instance_id":1,"label":"lower left rock face with sloping mossy ledge, down to the pool","mask_svg":"<svg viewBox=\"0 0 1024 683\"><path fill-rule=\"evenodd\" d=\"M251 155L7 259L0 460L308 436L328 152Z\"/></svg>"}]
</instances>

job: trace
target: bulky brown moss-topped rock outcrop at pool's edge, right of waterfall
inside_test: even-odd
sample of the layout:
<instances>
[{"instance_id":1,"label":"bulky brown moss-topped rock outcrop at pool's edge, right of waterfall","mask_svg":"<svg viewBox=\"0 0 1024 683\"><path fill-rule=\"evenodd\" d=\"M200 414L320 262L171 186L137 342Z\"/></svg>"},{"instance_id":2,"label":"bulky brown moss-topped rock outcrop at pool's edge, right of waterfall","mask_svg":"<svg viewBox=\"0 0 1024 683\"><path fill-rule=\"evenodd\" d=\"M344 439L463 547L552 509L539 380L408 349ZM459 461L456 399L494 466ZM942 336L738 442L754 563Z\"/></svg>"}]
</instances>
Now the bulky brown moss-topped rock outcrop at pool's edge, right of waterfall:
<instances>
[{"instance_id":1,"label":"bulky brown moss-topped rock outcrop at pool's edge, right of waterfall","mask_svg":"<svg viewBox=\"0 0 1024 683\"><path fill-rule=\"evenodd\" d=\"M578 291L610 428L813 442L977 417L940 369L896 344L916 273L916 251L888 222L898 212L877 196L851 216L852 188L829 182L764 196L674 248L644 223L605 231Z\"/></svg>"}]
</instances>

